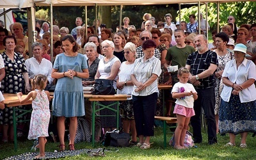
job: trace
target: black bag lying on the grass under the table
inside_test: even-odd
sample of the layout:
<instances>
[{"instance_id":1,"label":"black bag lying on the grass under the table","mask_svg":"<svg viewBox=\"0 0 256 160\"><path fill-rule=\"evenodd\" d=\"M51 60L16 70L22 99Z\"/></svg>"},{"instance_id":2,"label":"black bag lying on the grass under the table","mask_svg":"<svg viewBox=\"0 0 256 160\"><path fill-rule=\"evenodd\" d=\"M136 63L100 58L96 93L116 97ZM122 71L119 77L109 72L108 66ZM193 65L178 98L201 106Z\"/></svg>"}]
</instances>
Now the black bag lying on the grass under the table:
<instances>
[{"instance_id":1,"label":"black bag lying on the grass under the table","mask_svg":"<svg viewBox=\"0 0 256 160\"><path fill-rule=\"evenodd\" d=\"M105 147L129 147L130 145L130 134L127 132L116 133L106 132L104 139L101 142Z\"/></svg>"}]
</instances>

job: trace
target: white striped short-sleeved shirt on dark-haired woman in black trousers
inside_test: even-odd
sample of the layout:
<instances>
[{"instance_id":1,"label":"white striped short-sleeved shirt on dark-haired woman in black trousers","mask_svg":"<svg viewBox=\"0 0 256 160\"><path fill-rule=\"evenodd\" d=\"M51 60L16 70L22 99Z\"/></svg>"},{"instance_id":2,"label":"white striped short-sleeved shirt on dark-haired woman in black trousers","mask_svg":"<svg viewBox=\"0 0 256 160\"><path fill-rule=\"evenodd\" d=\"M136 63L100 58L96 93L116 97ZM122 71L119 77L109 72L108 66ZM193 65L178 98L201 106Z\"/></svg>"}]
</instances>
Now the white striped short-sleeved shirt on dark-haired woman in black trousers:
<instances>
[{"instance_id":1,"label":"white striped short-sleeved shirt on dark-haired woman in black trousers","mask_svg":"<svg viewBox=\"0 0 256 160\"><path fill-rule=\"evenodd\" d=\"M152 76L152 74L156 74L157 77L160 76L161 70L161 61L158 60L155 56L149 58L148 60L144 61L144 56L141 58L137 58L134 62L134 69L132 70L132 74L137 79L137 81L141 83L145 83L148 79ZM133 86L132 95L140 95L140 96L147 96L151 95L154 92L159 92L157 88L157 79L152 84L147 86L144 90L140 92L134 92L137 86Z\"/></svg>"}]
</instances>

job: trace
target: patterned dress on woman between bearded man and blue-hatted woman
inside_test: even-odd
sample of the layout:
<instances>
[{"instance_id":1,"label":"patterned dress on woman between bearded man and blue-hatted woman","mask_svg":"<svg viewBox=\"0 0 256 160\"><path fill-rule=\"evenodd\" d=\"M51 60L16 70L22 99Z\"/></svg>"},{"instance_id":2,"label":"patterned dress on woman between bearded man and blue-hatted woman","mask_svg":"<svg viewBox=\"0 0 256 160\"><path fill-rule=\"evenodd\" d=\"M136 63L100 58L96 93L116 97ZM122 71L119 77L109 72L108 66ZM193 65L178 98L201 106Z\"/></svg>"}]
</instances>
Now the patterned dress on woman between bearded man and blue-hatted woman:
<instances>
[{"instance_id":1,"label":"patterned dress on woman between bearded man and blue-hatted woman","mask_svg":"<svg viewBox=\"0 0 256 160\"><path fill-rule=\"evenodd\" d=\"M218 67L216 69L216 72L220 72L221 70L224 70L225 65L228 63L228 61L234 59L234 52L232 52L230 49L227 49L227 54L224 56L218 56ZM214 114L219 115L219 109L220 109L220 102L221 102L221 91L223 90L223 83L221 78L215 77L215 106L214 106Z\"/></svg>"}]
</instances>

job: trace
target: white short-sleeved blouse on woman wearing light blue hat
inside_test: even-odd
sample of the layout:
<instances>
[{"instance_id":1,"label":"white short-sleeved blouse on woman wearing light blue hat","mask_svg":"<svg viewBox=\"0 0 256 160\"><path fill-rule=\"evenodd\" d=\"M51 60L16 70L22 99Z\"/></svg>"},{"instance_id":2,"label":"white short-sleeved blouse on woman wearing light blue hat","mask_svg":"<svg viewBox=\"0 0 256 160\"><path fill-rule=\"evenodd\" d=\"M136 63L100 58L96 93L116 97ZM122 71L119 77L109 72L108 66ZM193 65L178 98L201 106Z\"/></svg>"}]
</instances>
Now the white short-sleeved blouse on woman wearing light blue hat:
<instances>
[{"instance_id":1,"label":"white short-sleeved blouse on woman wearing light blue hat","mask_svg":"<svg viewBox=\"0 0 256 160\"><path fill-rule=\"evenodd\" d=\"M251 60L244 58L243 63L236 67L236 60L228 61L225 69L223 71L222 77L227 77L232 83L243 84L248 79L256 79L256 68L255 64ZM230 95L232 92L231 86L224 85L224 88L221 92L221 98L226 102L229 102ZM252 84L248 88L245 88L239 92L240 101L251 102L256 100L256 88Z\"/></svg>"}]
</instances>

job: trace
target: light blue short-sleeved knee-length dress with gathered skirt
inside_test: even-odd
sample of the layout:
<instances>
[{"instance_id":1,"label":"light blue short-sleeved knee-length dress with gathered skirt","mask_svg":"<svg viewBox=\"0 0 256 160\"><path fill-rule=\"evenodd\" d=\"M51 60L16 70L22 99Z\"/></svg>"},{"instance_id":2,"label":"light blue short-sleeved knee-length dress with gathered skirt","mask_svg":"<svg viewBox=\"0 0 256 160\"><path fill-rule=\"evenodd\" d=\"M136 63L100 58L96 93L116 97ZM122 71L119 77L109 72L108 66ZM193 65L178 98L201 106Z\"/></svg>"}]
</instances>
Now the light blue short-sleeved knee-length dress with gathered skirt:
<instances>
[{"instance_id":1,"label":"light blue short-sleeved knee-length dress with gathered skirt","mask_svg":"<svg viewBox=\"0 0 256 160\"><path fill-rule=\"evenodd\" d=\"M58 72L67 72L68 69L83 72L88 65L83 54L65 56L64 53L61 53L56 56L53 68ZM65 117L85 115L83 86L80 77L58 79L52 100L52 115Z\"/></svg>"}]
</instances>

